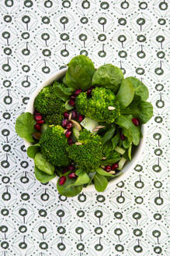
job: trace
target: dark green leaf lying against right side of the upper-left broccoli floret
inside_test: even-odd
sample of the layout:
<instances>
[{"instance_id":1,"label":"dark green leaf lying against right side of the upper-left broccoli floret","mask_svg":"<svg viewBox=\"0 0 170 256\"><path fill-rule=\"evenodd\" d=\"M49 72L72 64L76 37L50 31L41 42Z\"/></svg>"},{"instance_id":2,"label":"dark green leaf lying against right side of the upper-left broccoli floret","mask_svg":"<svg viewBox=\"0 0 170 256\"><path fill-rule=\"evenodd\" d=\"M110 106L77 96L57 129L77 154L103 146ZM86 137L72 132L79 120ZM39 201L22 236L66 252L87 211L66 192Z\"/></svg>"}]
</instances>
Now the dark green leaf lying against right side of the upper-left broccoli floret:
<instances>
[{"instance_id":1,"label":"dark green leaf lying against right side of the upper-left broccoli floret","mask_svg":"<svg viewBox=\"0 0 170 256\"><path fill-rule=\"evenodd\" d=\"M62 101L68 101L71 94L73 94L73 92L75 91L74 88L65 87L64 84L60 84L57 81L54 81L53 87L54 87L55 94Z\"/></svg>"}]
</instances>

